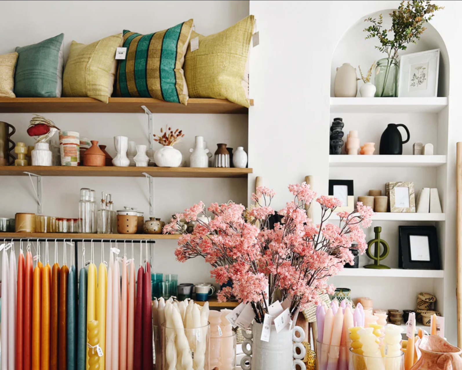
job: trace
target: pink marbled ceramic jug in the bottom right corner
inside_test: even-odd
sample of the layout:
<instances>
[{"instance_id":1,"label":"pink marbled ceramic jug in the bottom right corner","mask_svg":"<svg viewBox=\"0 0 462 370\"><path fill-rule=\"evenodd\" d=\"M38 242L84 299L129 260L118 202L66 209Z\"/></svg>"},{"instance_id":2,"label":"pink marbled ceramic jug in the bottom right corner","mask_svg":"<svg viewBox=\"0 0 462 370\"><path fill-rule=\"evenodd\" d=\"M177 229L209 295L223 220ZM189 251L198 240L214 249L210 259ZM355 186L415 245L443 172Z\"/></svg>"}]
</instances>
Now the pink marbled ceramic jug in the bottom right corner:
<instances>
[{"instance_id":1,"label":"pink marbled ceramic jug in the bottom right corner","mask_svg":"<svg viewBox=\"0 0 462 370\"><path fill-rule=\"evenodd\" d=\"M421 357L411 370L462 370L461 349L438 335L424 336L419 350Z\"/></svg>"}]
</instances>

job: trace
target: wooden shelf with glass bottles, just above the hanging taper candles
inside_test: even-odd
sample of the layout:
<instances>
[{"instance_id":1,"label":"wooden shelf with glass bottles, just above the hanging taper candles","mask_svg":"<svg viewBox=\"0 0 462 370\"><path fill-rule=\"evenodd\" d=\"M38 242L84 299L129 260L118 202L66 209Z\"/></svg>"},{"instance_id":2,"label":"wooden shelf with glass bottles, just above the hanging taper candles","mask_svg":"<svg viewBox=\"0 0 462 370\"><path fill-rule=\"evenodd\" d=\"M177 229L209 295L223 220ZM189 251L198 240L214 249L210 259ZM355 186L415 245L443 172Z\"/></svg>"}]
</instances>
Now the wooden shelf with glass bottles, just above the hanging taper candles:
<instances>
[{"instance_id":1,"label":"wooden shelf with glass bottles, just above the hanging taper candles","mask_svg":"<svg viewBox=\"0 0 462 370\"><path fill-rule=\"evenodd\" d=\"M95 239L95 240L176 240L180 235L163 234L79 234L79 233L0 233L2 239Z\"/></svg>"}]
</instances>

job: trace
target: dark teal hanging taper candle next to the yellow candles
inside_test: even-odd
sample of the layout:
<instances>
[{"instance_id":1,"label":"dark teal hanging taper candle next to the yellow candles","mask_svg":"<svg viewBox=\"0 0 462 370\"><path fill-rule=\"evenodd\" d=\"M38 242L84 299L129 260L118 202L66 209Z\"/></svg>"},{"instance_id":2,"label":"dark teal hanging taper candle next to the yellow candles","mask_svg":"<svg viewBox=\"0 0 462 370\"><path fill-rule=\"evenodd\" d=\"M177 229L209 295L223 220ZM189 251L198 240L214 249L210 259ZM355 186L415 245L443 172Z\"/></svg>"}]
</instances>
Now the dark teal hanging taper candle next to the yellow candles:
<instances>
[{"instance_id":1,"label":"dark teal hanging taper candle next to the yellow candles","mask_svg":"<svg viewBox=\"0 0 462 370\"><path fill-rule=\"evenodd\" d=\"M79 272L79 317L77 321L77 370L86 369L86 298L87 271L82 267Z\"/></svg>"}]
</instances>

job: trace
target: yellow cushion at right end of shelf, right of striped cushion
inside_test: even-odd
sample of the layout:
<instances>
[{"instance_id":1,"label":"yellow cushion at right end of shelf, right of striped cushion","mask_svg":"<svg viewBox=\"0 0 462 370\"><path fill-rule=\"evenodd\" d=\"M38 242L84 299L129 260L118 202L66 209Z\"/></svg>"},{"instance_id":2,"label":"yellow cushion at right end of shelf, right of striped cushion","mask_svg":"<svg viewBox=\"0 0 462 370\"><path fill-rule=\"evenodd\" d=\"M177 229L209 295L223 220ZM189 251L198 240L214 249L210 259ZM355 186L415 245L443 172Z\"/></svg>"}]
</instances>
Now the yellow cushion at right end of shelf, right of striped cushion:
<instances>
[{"instance_id":1,"label":"yellow cushion at right end of shelf, right of striped cushion","mask_svg":"<svg viewBox=\"0 0 462 370\"><path fill-rule=\"evenodd\" d=\"M249 51L255 18L250 15L230 28L199 37L199 49L188 48L184 76L191 98L228 99L244 107L249 101Z\"/></svg>"}]
</instances>

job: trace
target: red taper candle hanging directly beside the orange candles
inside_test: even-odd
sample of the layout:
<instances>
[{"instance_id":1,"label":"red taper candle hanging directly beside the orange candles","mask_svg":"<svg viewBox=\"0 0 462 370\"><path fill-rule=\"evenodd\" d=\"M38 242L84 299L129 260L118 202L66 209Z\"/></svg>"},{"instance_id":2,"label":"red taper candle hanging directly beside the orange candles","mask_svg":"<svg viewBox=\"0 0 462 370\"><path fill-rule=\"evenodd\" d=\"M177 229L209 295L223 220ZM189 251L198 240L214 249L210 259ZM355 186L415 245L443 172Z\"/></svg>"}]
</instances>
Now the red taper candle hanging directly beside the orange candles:
<instances>
[{"instance_id":1,"label":"red taper candle hanging directly beside the orange candles","mask_svg":"<svg viewBox=\"0 0 462 370\"><path fill-rule=\"evenodd\" d=\"M34 267L32 253L26 253L24 272L24 370L32 369L32 285Z\"/></svg>"}]
</instances>

